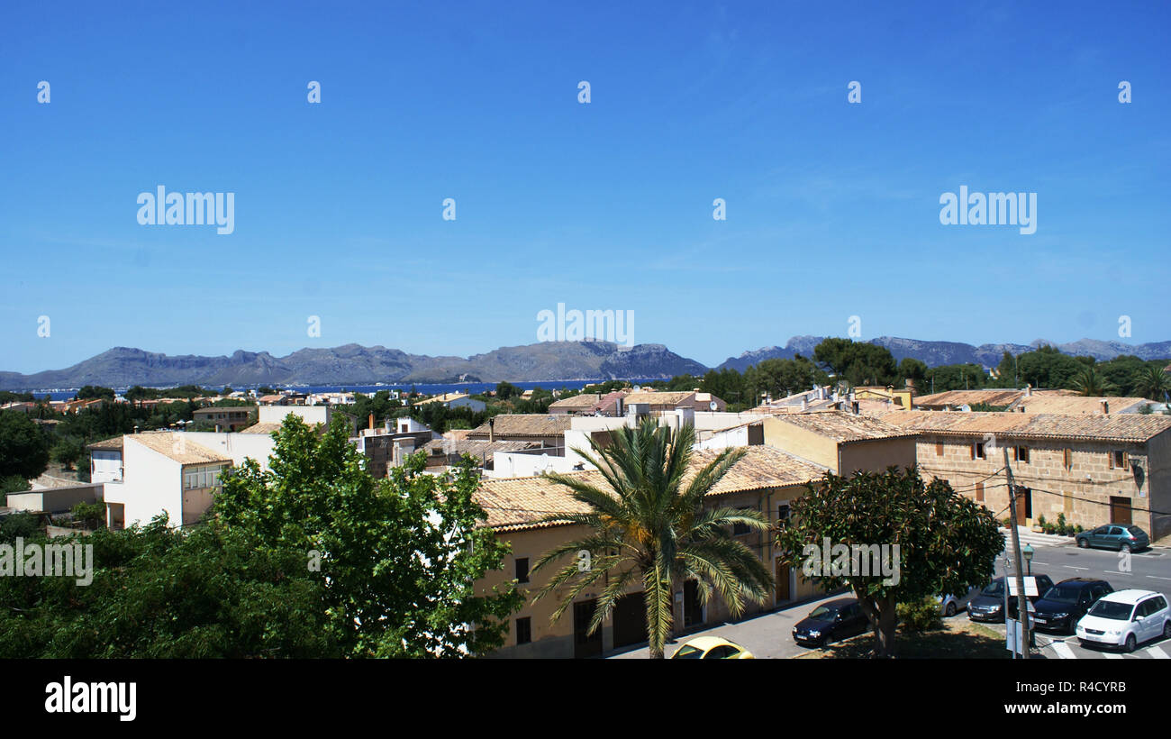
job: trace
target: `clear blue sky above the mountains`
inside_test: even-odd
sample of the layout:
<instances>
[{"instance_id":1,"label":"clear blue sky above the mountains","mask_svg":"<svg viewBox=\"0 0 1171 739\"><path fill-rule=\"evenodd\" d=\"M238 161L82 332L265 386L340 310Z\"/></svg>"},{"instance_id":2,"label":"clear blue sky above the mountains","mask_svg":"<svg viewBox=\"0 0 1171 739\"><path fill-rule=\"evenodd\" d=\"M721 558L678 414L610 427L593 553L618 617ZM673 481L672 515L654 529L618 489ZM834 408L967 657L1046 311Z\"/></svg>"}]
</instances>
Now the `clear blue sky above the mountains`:
<instances>
[{"instance_id":1,"label":"clear blue sky above the mountains","mask_svg":"<svg viewBox=\"0 0 1171 739\"><path fill-rule=\"evenodd\" d=\"M0 370L466 356L559 302L707 364L851 315L1171 338L1165 2L13 5ZM157 185L234 192L234 233L139 225ZM960 185L1038 193L1036 233L941 225Z\"/></svg>"}]
</instances>

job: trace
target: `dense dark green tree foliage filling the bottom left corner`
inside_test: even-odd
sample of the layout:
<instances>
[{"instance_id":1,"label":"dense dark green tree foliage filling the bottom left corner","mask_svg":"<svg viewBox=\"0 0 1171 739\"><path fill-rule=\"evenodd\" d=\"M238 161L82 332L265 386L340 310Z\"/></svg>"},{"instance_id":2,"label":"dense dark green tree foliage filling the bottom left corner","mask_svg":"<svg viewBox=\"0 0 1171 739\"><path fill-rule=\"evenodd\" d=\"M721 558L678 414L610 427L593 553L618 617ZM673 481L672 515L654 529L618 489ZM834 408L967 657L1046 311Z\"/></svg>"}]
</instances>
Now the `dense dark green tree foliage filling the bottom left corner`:
<instances>
[{"instance_id":1,"label":"dense dark green tree foliage filling the bottom left corner","mask_svg":"<svg viewBox=\"0 0 1171 739\"><path fill-rule=\"evenodd\" d=\"M303 552L258 547L215 521L169 528L164 516L78 541L94 547L85 587L75 577L0 577L0 657L343 656Z\"/></svg>"}]
</instances>

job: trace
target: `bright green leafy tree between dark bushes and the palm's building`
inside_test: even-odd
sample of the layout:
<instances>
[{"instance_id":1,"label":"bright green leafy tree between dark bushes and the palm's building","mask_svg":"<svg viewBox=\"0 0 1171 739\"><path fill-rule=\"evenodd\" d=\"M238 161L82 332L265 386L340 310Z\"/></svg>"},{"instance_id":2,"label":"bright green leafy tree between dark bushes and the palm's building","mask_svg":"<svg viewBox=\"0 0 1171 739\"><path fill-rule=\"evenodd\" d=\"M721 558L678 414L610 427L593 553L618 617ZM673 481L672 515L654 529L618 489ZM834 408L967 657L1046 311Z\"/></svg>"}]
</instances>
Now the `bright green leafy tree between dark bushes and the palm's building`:
<instances>
[{"instance_id":1,"label":"bright green leafy tree between dark bushes and the palm's building","mask_svg":"<svg viewBox=\"0 0 1171 739\"><path fill-rule=\"evenodd\" d=\"M458 657L502 644L522 601L512 588L473 591L507 547L482 527L471 460L436 477L420 452L376 480L348 436L341 418L319 437L288 416L269 470L246 460L217 514L262 548L316 561L326 628L348 656Z\"/></svg>"}]
</instances>

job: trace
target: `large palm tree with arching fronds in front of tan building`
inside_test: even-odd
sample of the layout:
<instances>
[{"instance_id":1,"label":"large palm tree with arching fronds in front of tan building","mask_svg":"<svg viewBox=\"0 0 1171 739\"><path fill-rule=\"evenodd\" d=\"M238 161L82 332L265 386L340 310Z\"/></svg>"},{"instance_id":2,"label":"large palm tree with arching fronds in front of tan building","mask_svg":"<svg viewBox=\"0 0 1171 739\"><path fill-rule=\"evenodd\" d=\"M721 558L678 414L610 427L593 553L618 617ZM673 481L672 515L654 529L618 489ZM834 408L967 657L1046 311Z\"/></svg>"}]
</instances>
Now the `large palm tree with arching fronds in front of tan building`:
<instances>
[{"instance_id":1,"label":"large palm tree with arching fronds in front of tan building","mask_svg":"<svg viewBox=\"0 0 1171 739\"><path fill-rule=\"evenodd\" d=\"M552 621L559 620L582 590L602 584L587 631L594 634L625 590L642 582L650 656L662 659L672 631L671 596L677 584L698 581L700 602L707 603L718 594L733 616L744 613L746 602L766 601L773 588L768 568L752 549L732 539L726 527L740 524L768 531L768 519L756 511L703 507L704 495L745 450L724 450L689 480L692 444L691 426L672 431L646 418L637 429L615 430L608 447L590 439L593 453L574 450L598 468L604 484L595 485L582 475L546 474L568 487L588 511L550 514L545 520L591 529L577 541L550 549L533 567L537 572L562 556L576 555L533 598L535 603L568 587ZM588 553L588 560L582 552Z\"/></svg>"}]
</instances>

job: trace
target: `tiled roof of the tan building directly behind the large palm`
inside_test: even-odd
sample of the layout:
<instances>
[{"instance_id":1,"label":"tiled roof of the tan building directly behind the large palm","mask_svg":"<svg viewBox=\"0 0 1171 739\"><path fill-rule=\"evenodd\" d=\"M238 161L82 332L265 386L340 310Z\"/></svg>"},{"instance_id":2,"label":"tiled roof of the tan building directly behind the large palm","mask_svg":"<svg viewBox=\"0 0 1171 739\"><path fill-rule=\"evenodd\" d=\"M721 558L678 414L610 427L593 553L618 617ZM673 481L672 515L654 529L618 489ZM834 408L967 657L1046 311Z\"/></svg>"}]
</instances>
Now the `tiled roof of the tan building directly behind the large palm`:
<instances>
[{"instance_id":1,"label":"tiled roof of the tan building directly behind the large palm","mask_svg":"<svg viewBox=\"0 0 1171 739\"><path fill-rule=\"evenodd\" d=\"M822 467L800 460L772 446L744 449L746 450L744 458L720 478L715 487L707 493L708 495L804 485L809 480L820 479L824 473ZM699 470L711 463L718 453L714 450L693 452L684 485ZM594 485L605 485L602 473L596 470L569 474ZM589 511L588 506L573 498L569 488L543 477L486 480L477 491L475 500L488 514L487 525L498 532L560 526L562 522L559 521L540 524L536 521L549 513L586 513Z\"/></svg>"}]
</instances>

